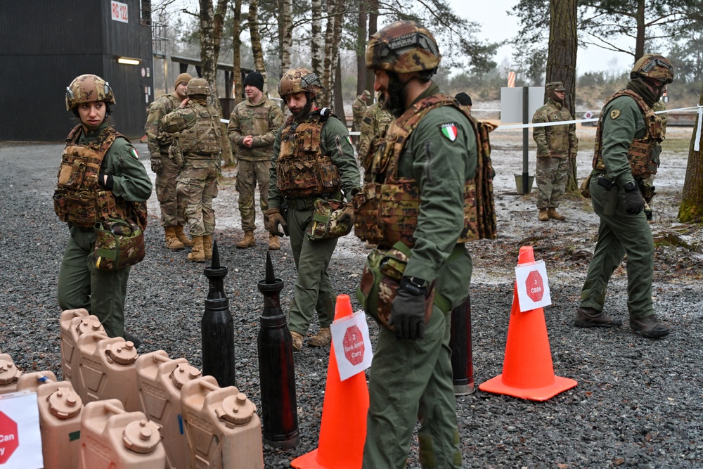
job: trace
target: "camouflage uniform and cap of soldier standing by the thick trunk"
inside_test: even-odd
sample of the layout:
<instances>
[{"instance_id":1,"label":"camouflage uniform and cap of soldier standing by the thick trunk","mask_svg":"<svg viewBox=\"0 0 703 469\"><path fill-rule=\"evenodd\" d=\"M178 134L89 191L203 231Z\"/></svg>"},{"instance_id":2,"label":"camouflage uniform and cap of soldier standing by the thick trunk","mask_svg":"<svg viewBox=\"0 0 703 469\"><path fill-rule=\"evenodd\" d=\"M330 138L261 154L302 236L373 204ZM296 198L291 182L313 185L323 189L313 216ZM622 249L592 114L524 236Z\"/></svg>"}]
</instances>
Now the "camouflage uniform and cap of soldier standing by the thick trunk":
<instances>
[{"instance_id":1,"label":"camouflage uniform and cap of soldier standing by the thick trunk","mask_svg":"<svg viewBox=\"0 0 703 469\"><path fill-rule=\"evenodd\" d=\"M557 89L560 88L560 89ZM549 83L547 91L562 91L560 82ZM532 117L534 124L572 120L569 110L553 98ZM579 140L576 139L576 125L555 125L534 127L532 138L537 143L537 163L535 180L537 182L537 208L555 209L564 195L569 177L569 160L576 160Z\"/></svg>"}]
</instances>

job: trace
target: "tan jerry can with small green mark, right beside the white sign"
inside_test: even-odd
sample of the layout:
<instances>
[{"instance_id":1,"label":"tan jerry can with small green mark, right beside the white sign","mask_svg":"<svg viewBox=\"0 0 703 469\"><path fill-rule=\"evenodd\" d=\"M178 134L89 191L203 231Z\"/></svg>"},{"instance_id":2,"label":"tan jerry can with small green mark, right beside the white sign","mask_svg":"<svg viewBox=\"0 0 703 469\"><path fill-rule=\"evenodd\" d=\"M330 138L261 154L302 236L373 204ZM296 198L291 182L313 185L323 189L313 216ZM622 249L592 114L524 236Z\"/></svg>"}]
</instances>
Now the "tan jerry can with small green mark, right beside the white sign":
<instances>
[{"instance_id":1,"label":"tan jerry can with small green mark, right beside the white sign","mask_svg":"<svg viewBox=\"0 0 703 469\"><path fill-rule=\"evenodd\" d=\"M75 469L80 450L83 403L68 381L37 388L44 469Z\"/></svg>"}]
</instances>

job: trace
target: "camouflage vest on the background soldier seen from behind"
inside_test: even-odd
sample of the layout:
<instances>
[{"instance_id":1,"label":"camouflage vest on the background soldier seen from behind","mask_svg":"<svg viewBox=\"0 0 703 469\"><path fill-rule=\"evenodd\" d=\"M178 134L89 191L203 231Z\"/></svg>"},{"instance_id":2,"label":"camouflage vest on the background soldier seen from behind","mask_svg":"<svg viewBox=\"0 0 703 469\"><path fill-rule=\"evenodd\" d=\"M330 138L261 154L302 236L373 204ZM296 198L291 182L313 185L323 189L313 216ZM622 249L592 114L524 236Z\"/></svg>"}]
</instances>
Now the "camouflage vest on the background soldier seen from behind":
<instances>
[{"instance_id":1,"label":"camouflage vest on the background soldier seen from behind","mask_svg":"<svg viewBox=\"0 0 703 469\"><path fill-rule=\"evenodd\" d=\"M178 134L183 156L186 160L217 158L222 150L222 131L217 110L199 103L193 103L191 108L195 112L195 125Z\"/></svg>"}]
</instances>

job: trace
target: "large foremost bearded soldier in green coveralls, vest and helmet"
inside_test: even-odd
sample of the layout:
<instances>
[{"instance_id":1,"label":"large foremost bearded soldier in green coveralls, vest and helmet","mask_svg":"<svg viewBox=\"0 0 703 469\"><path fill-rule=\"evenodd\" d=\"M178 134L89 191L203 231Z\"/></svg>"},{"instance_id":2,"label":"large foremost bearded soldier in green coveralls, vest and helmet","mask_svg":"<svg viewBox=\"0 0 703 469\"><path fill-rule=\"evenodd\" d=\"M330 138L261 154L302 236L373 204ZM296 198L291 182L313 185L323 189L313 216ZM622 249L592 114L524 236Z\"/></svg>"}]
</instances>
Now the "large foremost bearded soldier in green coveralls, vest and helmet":
<instances>
[{"instance_id":1,"label":"large foremost bearded soldier in green coveralls, vest and helmet","mask_svg":"<svg viewBox=\"0 0 703 469\"><path fill-rule=\"evenodd\" d=\"M366 49L374 89L397 120L364 162L354 230L378 250L394 247L409 259L370 368L365 469L405 468L418 420L423 468L461 467L450 319L469 293L472 260L464 243L475 238L478 151L469 110L432 82L440 59L432 34L412 21L384 27ZM372 316L375 300L366 298Z\"/></svg>"}]
</instances>

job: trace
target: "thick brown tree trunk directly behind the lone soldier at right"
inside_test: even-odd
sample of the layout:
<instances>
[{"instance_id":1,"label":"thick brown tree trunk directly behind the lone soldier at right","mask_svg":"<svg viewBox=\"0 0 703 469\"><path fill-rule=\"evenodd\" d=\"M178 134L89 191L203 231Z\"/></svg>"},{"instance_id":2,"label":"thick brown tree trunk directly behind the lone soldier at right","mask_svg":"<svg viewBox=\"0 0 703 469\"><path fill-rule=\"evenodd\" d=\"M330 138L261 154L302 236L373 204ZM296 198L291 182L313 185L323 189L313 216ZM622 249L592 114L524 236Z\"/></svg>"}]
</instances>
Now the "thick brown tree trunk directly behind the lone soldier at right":
<instances>
[{"instance_id":1,"label":"thick brown tree trunk directly behind the lone soldier at right","mask_svg":"<svg viewBox=\"0 0 703 469\"><path fill-rule=\"evenodd\" d=\"M567 89L564 105L574 116L576 89L576 0L550 0L549 49L547 56L546 82L563 82ZM569 159L567 192L577 193L579 181L576 175L576 159Z\"/></svg>"}]
</instances>

